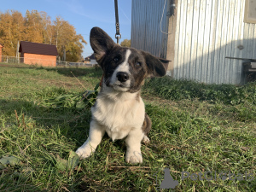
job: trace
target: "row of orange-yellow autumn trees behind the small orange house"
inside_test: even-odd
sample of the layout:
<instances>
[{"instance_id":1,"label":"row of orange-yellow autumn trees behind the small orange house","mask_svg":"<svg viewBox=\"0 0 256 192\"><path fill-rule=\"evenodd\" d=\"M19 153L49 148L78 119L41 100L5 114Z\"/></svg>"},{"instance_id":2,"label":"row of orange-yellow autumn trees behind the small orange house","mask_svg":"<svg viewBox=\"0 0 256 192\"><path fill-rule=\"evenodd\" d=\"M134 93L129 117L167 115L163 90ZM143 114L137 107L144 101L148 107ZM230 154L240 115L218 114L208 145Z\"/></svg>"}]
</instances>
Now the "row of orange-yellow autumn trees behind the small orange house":
<instances>
[{"instance_id":1,"label":"row of orange-yellow autumn trees behind the small orange house","mask_svg":"<svg viewBox=\"0 0 256 192\"><path fill-rule=\"evenodd\" d=\"M52 21L47 13L37 10L27 10L24 17L15 10L0 13L3 55L15 56L18 41L55 44L61 58L66 53L66 61L79 61L84 44L87 44L74 26L60 16Z\"/></svg>"}]
</instances>

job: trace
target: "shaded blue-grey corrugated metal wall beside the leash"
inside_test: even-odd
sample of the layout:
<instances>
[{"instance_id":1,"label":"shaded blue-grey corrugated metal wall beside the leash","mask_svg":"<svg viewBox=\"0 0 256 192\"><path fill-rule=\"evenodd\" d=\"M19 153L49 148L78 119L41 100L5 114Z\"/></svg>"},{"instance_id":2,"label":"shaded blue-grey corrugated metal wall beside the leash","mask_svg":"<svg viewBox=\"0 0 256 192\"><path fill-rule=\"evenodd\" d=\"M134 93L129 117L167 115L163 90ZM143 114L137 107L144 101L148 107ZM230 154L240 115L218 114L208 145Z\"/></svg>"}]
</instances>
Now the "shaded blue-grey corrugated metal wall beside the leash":
<instances>
[{"instance_id":1,"label":"shaded blue-grey corrugated metal wall beside the leash","mask_svg":"<svg viewBox=\"0 0 256 192\"><path fill-rule=\"evenodd\" d=\"M162 19L162 31L168 30L166 7ZM160 32L160 20L165 0L132 0L131 7L131 47L143 49L166 59L168 35Z\"/></svg>"}]
</instances>

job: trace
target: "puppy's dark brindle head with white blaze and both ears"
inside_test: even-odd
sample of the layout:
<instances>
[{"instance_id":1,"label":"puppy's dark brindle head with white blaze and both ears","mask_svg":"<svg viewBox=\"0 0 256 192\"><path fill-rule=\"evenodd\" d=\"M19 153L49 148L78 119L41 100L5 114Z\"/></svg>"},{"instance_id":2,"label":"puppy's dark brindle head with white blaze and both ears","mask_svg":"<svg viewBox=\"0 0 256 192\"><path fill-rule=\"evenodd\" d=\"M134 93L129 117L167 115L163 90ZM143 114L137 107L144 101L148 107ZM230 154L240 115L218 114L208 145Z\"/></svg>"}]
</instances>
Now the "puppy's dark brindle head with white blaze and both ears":
<instances>
[{"instance_id":1,"label":"puppy's dark brindle head with white blaze and both ears","mask_svg":"<svg viewBox=\"0 0 256 192\"><path fill-rule=\"evenodd\" d=\"M166 74L166 68L156 57L142 50L115 44L101 28L91 29L90 46L102 67L104 84L114 90L137 92L145 78Z\"/></svg>"}]
</instances>

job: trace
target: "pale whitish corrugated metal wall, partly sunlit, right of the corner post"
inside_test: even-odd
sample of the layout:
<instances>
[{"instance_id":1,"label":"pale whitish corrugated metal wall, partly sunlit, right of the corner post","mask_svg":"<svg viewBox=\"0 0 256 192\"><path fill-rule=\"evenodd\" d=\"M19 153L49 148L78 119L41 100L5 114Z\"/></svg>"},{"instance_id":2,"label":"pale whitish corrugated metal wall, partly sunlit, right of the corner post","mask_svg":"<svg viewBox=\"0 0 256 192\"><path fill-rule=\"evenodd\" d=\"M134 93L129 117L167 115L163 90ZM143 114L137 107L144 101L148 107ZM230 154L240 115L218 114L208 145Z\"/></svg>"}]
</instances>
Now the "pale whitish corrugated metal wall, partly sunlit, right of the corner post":
<instances>
[{"instance_id":1,"label":"pale whitish corrugated metal wall, partly sunlit, right of the corner post","mask_svg":"<svg viewBox=\"0 0 256 192\"><path fill-rule=\"evenodd\" d=\"M256 59L256 26L243 22L244 7L245 0L178 1L176 79L208 84L243 82L243 61L225 57ZM239 45L244 48L238 49Z\"/></svg>"}]
</instances>

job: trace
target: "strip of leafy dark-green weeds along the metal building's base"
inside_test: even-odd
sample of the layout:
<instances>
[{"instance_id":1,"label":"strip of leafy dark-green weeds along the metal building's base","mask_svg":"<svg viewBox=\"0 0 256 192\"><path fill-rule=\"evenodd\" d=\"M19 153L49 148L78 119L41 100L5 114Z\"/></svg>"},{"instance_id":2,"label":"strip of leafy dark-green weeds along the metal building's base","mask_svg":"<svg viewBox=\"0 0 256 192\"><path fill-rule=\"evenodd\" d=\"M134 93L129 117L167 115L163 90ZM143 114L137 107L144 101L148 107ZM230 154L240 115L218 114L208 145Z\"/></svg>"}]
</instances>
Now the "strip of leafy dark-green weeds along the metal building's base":
<instances>
[{"instance_id":1,"label":"strip of leafy dark-green weeds along the metal building's base","mask_svg":"<svg viewBox=\"0 0 256 192\"><path fill-rule=\"evenodd\" d=\"M170 77L150 79L144 90L151 95L172 101L207 102L212 113L235 115L241 121L256 121L256 82L236 86L231 84L200 84ZM211 105L212 104L212 105ZM230 117L229 117L230 118Z\"/></svg>"}]
</instances>

